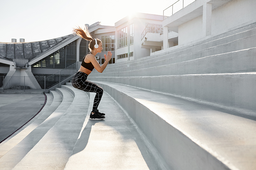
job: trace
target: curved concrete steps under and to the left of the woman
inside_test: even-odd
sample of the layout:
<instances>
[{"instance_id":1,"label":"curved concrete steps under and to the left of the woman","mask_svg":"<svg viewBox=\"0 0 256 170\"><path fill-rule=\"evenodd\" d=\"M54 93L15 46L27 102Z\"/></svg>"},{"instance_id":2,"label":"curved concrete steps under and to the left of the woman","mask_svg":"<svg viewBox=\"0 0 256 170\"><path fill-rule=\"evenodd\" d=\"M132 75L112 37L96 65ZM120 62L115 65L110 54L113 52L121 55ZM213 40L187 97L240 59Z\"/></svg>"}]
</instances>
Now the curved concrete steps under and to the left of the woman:
<instances>
[{"instance_id":1,"label":"curved concrete steps under and to the left of the woman","mask_svg":"<svg viewBox=\"0 0 256 170\"><path fill-rule=\"evenodd\" d=\"M88 121L94 93L66 83L46 95L43 110L0 145L1 170L168 169L107 93L99 106L103 121Z\"/></svg>"}]
</instances>

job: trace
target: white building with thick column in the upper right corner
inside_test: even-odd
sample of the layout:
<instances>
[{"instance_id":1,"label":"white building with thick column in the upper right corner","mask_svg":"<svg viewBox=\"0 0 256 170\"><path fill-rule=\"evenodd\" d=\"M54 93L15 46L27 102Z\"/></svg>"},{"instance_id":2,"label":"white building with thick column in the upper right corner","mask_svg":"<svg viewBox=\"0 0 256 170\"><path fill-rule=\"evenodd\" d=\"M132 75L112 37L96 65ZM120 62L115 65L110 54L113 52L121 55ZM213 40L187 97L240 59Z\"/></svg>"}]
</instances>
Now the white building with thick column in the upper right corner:
<instances>
[{"instance_id":1,"label":"white building with thick column in the upper right corner","mask_svg":"<svg viewBox=\"0 0 256 170\"><path fill-rule=\"evenodd\" d=\"M194 1L194 2L193 2ZM168 30L179 33L179 45L185 46L211 36L256 22L255 0L180 0L184 8L164 11L164 49L169 48ZM178 2L178 3L179 3ZM188 5L187 2L192 2ZM186 4L187 3L187 4ZM188 5L188 6L185 6ZM182 7L181 7L182 8Z\"/></svg>"}]
</instances>

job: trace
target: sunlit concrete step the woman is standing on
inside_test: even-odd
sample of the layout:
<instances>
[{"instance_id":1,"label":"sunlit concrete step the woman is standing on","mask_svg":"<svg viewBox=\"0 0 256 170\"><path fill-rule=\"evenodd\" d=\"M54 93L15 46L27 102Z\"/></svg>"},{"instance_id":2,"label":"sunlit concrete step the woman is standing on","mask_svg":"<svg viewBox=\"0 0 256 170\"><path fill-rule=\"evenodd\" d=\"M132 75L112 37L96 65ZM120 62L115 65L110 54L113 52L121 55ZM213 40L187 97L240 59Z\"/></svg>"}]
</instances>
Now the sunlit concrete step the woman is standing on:
<instances>
[{"instance_id":1,"label":"sunlit concrete step the woman is standing on","mask_svg":"<svg viewBox=\"0 0 256 170\"><path fill-rule=\"evenodd\" d=\"M156 149L148 144L126 112L108 93L103 93L98 107L106 118L101 121L89 120L95 93L90 96L84 126L65 170L169 169L159 158Z\"/></svg>"}]
</instances>

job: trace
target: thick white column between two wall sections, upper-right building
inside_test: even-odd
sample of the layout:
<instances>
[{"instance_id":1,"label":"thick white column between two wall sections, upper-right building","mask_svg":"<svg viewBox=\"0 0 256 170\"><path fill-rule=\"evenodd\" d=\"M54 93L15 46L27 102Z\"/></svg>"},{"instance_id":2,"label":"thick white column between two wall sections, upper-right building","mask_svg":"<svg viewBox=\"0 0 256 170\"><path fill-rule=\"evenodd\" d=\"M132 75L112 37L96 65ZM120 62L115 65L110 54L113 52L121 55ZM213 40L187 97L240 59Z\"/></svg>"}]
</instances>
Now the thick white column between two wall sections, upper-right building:
<instances>
[{"instance_id":1,"label":"thick white column between two wall sections, upper-right building","mask_svg":"<svg viewBox=\"0 0 256 170\"><path fill-rule=\"evenodd\" d=\"M212 34L212 4L203 5L203 37Z\"/></svg>"}]
</instances>

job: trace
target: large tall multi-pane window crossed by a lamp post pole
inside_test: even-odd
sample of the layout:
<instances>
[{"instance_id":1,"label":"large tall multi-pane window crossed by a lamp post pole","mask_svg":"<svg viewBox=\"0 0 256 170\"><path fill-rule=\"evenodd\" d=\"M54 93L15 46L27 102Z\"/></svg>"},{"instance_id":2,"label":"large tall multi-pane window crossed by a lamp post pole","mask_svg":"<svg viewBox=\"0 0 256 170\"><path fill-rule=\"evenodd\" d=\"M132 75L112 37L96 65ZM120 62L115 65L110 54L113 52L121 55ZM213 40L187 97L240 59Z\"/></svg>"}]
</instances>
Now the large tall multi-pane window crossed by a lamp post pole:
<instances>
[{"instance_id":1,"label":"large tall multi-pane window crossed by a lamp post pole","mask_svg":"<svg viewBox=\"0 0 256 170\"><path fill-rule=\"evenodd\" d=\"M133 24L118 30L117 36L118 36L118 38L117 38L118 48L127 46L129 38L130 38L130 44L133 44Z\"/></svg>"}]
</instances>

